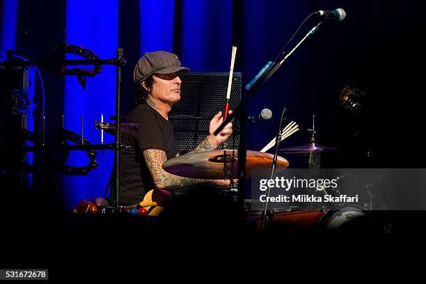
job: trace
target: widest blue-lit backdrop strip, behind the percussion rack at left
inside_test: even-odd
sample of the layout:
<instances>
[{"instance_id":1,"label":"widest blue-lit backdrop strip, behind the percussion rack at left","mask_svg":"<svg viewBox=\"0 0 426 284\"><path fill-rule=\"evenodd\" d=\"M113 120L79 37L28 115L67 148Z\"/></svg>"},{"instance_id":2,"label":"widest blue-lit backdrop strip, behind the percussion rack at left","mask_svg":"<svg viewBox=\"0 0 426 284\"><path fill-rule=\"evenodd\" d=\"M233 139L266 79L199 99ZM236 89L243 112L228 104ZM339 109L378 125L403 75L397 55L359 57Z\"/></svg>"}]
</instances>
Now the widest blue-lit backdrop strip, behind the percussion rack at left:
<instances>
[{"instance_id":1,"label":"widest blue-lit backdrop strip, behind the percussion rack at left","mask_svg":"<svg viewBox=\"0 0 426 284\"><path fill-rule=\"evenodd\" d=\"M66 1L65 42L79 45L97 54L99 58L116 57L118 47L118 0L68 0ZM79 56L70 55L75 59ZM68 67L72 68L72 67ZM77 66L76 68L79 68ZM91 69L93 66L85 66ZM88 77L86 89L77 78L65 78L65 129L81 134L81 115L84 116L84 137L90 143L100 143L100 131L94 128L95 120L104 121L115 114L116 67L104 65L101 74ZM113 136L104 135L104 143L113 142ZM103 196L113 164L113 152L97 152L97 169L87 176L63 178L66 204L76 207L79 200L92 200ZM84 152L72 152L68 164L84 166L88 158Z\"/></svg>"}]
</instances>

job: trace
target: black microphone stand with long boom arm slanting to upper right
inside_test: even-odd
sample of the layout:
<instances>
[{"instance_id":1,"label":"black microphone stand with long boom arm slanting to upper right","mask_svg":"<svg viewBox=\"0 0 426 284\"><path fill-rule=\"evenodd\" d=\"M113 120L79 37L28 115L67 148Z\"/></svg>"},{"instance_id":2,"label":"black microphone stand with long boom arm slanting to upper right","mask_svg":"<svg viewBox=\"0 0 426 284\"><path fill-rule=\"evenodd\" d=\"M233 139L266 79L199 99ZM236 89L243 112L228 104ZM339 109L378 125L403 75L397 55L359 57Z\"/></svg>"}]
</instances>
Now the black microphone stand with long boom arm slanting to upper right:
<instances>
[{"instance_id":1,"label":"black microphone stand with long boom arm slanting to upper right","mask_svg":"<svg viewBox=\"0 0 426 284\"><path fill-rule=\"evenodd\" d=\"M313 15L313 14L311 14ZM309 15L308 17L310 17ZM306 33L306 36L304 36L299 43L292 49L290 52L286 52L285 49L283 52L280 52L276 59L274 61L269 61L265 67L263 67L258 74L246 85L246 93L244 95L243 100L238 104L238 106L234 109L232 113L228 115L228 117L223 120L223 123L216 129L214 132L214 135L219 134L223 127L231 122L232 119L235 117L239 118L239 124L241 127L241 136L239 140L239 150L238 150L238 178L239 178L239 204L241 204L244 207L244 188L245 188L245 178L246 178L246 146L244 145L244 121L245 121L245 107L249 100L251 100L251 97L255 95L255 91L258 90L262 84L265 84L265 82L283 65L284 61L287 60L287 58L301 45L303 41L305 41L309 36L311 36L317 29L319 29L319 26L321 26L322 22L319 22L316 24L308 33ZM278 147L278 146L277 146Z\"/></svg>"}]
</instances>

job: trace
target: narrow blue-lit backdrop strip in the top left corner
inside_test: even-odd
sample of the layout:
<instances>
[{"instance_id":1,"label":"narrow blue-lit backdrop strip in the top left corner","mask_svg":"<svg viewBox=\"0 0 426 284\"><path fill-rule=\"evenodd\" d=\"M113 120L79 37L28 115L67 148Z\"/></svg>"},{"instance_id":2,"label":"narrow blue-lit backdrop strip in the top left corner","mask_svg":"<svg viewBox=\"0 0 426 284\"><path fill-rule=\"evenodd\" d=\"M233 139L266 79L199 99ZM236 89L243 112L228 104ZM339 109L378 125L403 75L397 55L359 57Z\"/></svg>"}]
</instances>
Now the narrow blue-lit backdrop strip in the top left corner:
<instances>
[{"instance_id":1,"label":"narrow blue-lit backdrop strip in the top left corner","mask_svg":"<svg viewBox=\"0 0 426 284\"><path fill-rule=\"evenodd\" d=\"M15 50L18 0L3 0L0 54Z\"/></svg>"}]
</instances>

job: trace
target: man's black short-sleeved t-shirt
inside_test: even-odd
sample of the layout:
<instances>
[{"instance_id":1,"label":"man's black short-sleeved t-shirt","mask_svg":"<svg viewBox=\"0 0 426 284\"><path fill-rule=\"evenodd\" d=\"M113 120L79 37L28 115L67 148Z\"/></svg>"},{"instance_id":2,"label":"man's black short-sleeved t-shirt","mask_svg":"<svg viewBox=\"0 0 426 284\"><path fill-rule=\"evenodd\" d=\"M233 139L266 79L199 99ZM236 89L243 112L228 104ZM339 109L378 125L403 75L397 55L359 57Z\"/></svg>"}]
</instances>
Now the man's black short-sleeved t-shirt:
<instances>
[{"instance_id":1,"label":"man's black short-sleeved t-shirt","mask_svg":"<svg viewBox=\"0 0 426 284\"><path fill-rule=\"evenodd\" d=\"M123 144L129 145L130 149L121 151L120 155L120 205L134 205L141 202L148 191L155 189L143 151L163 150L167 159L171 159L178 153L178 146L170 121L147 104L139 104L125 122L139 124L139 134L122 135Z\"/></svg>"}]
</instances>

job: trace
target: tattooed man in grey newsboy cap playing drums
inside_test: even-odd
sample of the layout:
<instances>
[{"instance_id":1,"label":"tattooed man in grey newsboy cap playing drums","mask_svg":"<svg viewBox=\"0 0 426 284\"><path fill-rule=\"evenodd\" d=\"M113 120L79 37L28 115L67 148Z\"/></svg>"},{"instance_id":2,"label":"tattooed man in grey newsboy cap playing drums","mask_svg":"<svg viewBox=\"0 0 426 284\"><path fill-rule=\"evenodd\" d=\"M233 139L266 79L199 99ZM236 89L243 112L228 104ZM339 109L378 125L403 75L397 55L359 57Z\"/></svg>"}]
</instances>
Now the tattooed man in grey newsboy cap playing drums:
<instances>
[{"instance_id":1,"label":"tattooed man in grey newsboy cap playing drums","mask_svg":"<svg viewBox=\"0 0 426 284\"><path fill-rule=\"evenodd\" d=\"M181 66L178 56L168 52L145 53L134 68L136 107L126 122L139 124L140 131L138 135L123 134L122 137L130 149L121 152L120 205L139 203L150 189L177 189L200 182L229 184L226 180L182 178L162 168L165 161L179 155L168 113L180 100L180 72L189 72L189 69ZM213 134L222 120L219 111L210 121L209 135L191 152L214 150L229 138L232 123L218 135Z\"/></svg>"}]
</instances>

